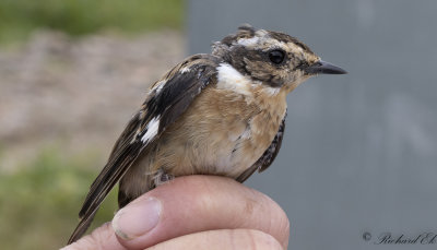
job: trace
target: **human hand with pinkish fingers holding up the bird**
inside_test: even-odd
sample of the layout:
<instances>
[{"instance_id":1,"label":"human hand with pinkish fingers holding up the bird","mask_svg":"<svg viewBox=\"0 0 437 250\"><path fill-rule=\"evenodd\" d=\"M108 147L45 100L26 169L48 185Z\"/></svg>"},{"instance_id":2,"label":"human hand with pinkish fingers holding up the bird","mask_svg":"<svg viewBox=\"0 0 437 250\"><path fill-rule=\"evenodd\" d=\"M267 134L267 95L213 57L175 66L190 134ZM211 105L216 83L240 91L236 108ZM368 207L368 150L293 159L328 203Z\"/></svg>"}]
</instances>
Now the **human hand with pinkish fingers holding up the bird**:
<instances>
[{"instance_id":1,"label":"human hand with pinkish fingers holding up the bird","mask_svg":"<svg viewBox=\"0 0 437 250\"><path fill-rule=\"evenodd\" d=\"M267 195L216 176L178 177L141 195L75 249L286 249L290 223Z\"/></svg>"}]
</instances>

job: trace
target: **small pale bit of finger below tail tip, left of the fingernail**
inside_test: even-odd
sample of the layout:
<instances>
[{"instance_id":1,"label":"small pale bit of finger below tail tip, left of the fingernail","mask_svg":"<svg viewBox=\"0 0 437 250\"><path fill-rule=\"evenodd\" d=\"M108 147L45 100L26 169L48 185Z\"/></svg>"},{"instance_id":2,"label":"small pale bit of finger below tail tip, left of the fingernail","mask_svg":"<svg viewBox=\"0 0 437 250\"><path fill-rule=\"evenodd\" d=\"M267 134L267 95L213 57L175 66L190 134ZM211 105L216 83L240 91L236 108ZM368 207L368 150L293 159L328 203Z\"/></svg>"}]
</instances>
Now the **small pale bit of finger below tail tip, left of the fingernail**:
<instances>
[{"instance_id":1,"label":"small pale bit of finger below tail tip, left of the fingernail","mask_svg":"<svg viewBox=\"0 0 437 250\"><path fill-rule=\"evenodd\" d=\"M87 249L105 249L105 250L126 250L117 240L110 223L96 228L91 233L71 243L61 250L87 250Z\"/></svg>"}]
</instances>

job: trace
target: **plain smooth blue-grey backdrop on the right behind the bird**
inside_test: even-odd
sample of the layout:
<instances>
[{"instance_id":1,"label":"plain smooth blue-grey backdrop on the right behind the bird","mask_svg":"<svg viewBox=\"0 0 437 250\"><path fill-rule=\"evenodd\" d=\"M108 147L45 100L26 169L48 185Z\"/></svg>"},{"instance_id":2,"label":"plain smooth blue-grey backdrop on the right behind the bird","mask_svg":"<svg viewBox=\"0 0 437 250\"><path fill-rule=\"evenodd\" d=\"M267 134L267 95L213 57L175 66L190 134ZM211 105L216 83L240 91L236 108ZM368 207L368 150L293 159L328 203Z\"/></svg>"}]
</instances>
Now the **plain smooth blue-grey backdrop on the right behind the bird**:
<instances>
[{"instance_id":1,"label":"plain smooth blue-grey backdrop on the right behind the bird","mask_svg":"<svg viewBox=\"0 0 437 250\"><path fill-rule=\"evenodd\" d=\"M287 213L290 249L437 249L373 243L437 234L437 1L191 0L187 22L190 53L251 23L350 72L288 96L280 155L247 181Z\"/></svg>"}]
</instances>

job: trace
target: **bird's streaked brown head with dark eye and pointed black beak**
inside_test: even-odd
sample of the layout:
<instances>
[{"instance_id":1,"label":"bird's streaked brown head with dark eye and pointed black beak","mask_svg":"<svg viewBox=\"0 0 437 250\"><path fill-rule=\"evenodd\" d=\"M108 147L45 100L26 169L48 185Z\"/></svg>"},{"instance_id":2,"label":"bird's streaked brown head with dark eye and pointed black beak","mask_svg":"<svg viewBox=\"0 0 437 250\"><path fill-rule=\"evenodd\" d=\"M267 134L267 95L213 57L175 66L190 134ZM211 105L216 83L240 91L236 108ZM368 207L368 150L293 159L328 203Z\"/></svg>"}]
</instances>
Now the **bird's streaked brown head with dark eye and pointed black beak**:
<instances>
[{"instance_id":1,"label":"bird's streaked brown head with dark eye and pointed black beak","mask_svg":"<svg viewBox=\"0 0 437 250\"><path fill-rule=\"evenodd\" d=\"M256 29L250 25L244 25L236 34L215 43L212 53L252 81L287 92L316 74L346 73L320 60L298 39L280 32Z\"/></svg>"}]
</instances>

